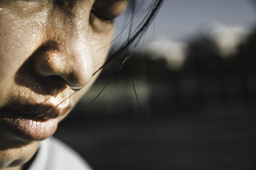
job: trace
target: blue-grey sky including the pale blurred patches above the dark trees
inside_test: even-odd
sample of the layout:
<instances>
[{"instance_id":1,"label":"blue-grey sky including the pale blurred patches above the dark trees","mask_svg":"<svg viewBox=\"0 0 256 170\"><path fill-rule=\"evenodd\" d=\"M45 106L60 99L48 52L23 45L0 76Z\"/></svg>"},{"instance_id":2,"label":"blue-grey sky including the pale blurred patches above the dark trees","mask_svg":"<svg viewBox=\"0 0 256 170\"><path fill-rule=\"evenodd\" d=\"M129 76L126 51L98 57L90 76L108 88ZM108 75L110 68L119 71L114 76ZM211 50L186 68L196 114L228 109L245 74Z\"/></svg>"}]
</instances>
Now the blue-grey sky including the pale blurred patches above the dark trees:
<instances>
[{"instance_id":1,"label":"blue-grey sky including the pale blurred patches above the dark trees","mask_svg":"<svg viewBox=\"0 0 256 170\"><path fill-rule=\"evenodd\" d=\"M145 6L150 1L154 0L144 0ZM124 22L127 19L120 17L116 34L124 29ZM246 32L255 26L256 0L165 0L136 50L160 52L160 57L166 54L167 60L177 64L184 61L186 40L204 33L220 45L224 56L234 52ZM124 34L115 41L124 42Z\"/></svg>"}]
</instances>

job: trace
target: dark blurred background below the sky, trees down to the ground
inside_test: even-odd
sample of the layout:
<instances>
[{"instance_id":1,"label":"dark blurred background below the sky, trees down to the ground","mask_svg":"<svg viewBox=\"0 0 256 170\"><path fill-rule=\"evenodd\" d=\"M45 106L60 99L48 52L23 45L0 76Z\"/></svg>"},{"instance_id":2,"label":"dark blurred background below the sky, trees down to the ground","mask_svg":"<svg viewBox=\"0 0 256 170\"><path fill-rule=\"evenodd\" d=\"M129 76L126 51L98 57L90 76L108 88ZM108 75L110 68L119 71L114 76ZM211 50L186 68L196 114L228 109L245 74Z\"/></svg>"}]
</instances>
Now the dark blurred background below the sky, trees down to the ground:
<instances>
[{"instance_id":1,"label":"dark blurred background below the sky, trees down to the ground","mask_svg":"<svg viewBox=\"0 0 256 170\"><path fill-rule=\"evenodd\" d=\"M88 106L116 60L55 135L95 170L255 169L255 39L254 32L228 57L211 39L192 39L179 69L136 52Z\"/></svg>"}]
</instances>

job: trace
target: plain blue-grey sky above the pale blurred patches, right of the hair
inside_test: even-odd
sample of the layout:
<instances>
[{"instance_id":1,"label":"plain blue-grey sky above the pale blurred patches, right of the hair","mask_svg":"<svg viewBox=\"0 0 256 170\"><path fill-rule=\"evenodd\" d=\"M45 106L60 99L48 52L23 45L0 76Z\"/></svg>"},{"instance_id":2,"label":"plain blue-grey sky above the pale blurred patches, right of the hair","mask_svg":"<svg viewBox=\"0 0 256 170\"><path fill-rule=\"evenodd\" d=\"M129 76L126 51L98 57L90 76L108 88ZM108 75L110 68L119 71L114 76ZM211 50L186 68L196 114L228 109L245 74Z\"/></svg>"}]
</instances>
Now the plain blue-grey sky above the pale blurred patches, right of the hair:
<instances>
[{"instance_id":1,"label":"plain blue-grey sky above the pale blurred patches, right of the hair","mask_svg":"<svg viewBox=\"0 0 256 170\"><path fill-rule=\"evenodd\" d=\"M146 39L183 39L212 23L252 27L255 21L253 0L165 0Z\"/></svg>"}]
</instances>

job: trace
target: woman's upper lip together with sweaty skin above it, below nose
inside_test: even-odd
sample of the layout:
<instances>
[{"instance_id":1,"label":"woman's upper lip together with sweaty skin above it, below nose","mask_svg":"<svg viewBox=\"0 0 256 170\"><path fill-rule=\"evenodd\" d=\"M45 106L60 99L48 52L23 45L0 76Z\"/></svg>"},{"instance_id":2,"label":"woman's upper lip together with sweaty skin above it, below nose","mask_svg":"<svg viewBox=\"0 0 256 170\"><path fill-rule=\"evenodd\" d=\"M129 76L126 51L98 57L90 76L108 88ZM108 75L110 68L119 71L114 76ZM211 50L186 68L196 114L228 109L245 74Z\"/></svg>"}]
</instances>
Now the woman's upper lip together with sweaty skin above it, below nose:
<instances>
[{"instance_id":1,"label":"woman's upper lip together with sweaty skin above it, below nose","mask_svg":"<svg viewBox=\"0 0 256 170\"><path fill-rule=\"evenodd\" d=\"M0 118L27 118L45 121L65 115L71 108L73 90L63 89L52 95L38 96L26 89L17 89L6 104L0 107ZM28 97L24 94L29 94Z\"/></svg>"}]
</instances>

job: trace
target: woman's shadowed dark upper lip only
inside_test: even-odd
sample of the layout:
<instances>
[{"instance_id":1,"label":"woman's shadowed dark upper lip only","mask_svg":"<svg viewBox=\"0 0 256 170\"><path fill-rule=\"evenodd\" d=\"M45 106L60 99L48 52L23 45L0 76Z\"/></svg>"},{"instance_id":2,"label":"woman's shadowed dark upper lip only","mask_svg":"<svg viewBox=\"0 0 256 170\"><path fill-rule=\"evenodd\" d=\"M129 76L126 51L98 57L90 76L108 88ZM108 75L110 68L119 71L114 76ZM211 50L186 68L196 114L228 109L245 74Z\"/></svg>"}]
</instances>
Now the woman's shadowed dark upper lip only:
<instances>
[{"instance_id":1,"label":"woman's shadowed dark upper lip only","mask_svg":"<svg viewBox=\"0 0 256 170\"><path fill-rule=\"evenodd\" d=\"M65 107L54 104L19 104L14 103L10 106L0 108L0 117L4 118L28 118L31 120L47 120L64 115L70 103Z\"/></svg>"}]
</instances>

